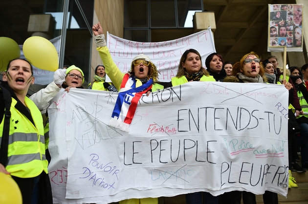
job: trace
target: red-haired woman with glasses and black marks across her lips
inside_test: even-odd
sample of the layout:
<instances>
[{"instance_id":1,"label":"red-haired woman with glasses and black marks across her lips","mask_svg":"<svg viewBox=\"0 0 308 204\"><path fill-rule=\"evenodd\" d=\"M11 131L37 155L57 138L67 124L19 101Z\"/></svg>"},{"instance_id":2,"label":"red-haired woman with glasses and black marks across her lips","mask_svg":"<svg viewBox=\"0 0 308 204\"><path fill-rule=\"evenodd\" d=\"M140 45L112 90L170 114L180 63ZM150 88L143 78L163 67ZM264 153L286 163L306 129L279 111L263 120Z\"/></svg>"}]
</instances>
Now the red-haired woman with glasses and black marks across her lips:
<instances>
[{"instance_id":1,"label":"red-haired woman with glasses and black marks across her lips","mask_svg":"<svg viewBox=\"0 0 308 204\"><path fill-rule=\"evenodd\" d=\"M225 82L240 82L240 83L266 83L264 67L260 63L260 58L254 52L246 54L242 59L235 63L232 69L232 76L225 77ZM286 89L290 90L292 85L283 81ZM220 196L221 203L225 204L256 204L255 194L247 191L231 191ZM278 204L277 193L265 191L263 195L264 204Z\"/></svg>"}]
</instances>

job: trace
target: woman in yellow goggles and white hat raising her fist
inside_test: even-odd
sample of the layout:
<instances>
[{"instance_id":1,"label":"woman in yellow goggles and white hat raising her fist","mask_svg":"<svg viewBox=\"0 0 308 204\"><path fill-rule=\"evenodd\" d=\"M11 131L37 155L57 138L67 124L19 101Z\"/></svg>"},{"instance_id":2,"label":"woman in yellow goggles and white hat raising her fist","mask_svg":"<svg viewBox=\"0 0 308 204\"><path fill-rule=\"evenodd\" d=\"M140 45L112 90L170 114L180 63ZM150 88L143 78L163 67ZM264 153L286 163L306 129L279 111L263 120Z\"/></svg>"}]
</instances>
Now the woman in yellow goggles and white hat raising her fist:
<instances>
[{"instance_id":1,"label":"woman in yellow goggles and white hat raising her fist","mask_svg":"<svg viewBox=\"0 0 308 204\"><path fill-rule=\"evenodd\" d=\"M119 98L125 97L126 93L132 95L130 91L134 93L134 97L136 97L136 95L140 97L143 93L147 93L148 95L151 92L162 90L164 88L162 85L156 83L158 82L158 71L148 56L143 54L135 56L132 59L131 69L128 73L124 74L119 70L110 56L109 49L106 46L105 36L103 35L104 31L100 23L94 24L92 31L95 36L94 38L97 50L105 66L105 72L110 77L113 85L117 88L117 90L119 90L116 104L118 103ZM138 102L138 99L132 101ZM114 117L116 114L117 113L115 113L114 110L111 116L112 122L110 120L108 125L116 128L119 127L119 129L123 131L129 131L129 124L125 121L120 121L119 118L121 118L121 116L116 119L116 117ZM117 123L118 126L116 126L115 123ZM119 204L139 203L158 204L158 198L129 199L119 202Z\"/></svg>"}]
</instances>

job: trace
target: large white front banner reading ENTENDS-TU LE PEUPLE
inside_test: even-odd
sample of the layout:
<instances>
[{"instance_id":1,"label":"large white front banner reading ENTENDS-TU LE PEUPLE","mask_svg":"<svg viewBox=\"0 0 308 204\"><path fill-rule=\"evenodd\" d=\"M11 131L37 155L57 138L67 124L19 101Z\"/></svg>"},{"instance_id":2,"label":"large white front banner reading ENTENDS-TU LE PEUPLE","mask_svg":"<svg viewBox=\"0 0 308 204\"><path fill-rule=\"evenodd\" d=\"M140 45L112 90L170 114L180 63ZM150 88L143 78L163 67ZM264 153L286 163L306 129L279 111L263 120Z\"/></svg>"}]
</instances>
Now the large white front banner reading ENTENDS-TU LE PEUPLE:
<instances>
[{"instance_id":1,"label":"large white front banner reading ENTENDS-TU LE PEUPLE","mask_svg":"<svg viewBox=\"0 0 308 204\"><path fill-rule=\"evenodd\" d=\"M64 90L49 113L54 203L207 191L288 190L283 85L189 82L143 96L130 132L107 126L117 93Z\"/></svg>"}]
</instances>

